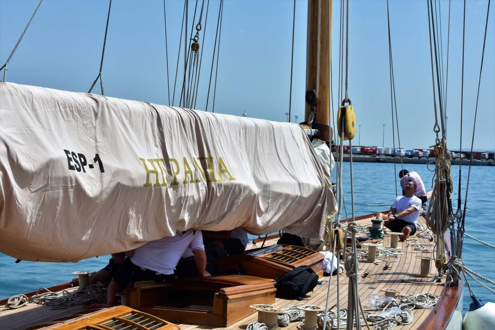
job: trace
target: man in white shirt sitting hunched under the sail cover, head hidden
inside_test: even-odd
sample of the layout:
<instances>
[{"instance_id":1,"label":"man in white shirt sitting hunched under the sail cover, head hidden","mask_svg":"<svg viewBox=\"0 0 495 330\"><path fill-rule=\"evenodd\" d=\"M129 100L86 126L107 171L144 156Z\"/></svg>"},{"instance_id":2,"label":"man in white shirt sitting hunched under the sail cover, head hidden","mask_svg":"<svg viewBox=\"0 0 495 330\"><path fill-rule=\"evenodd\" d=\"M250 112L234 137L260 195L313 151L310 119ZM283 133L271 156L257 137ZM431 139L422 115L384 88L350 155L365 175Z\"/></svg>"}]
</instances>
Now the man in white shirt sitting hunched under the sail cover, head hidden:
<instances>
[{"instance_id":1,"label":"man in white shirt sitting hunched under the sail cover, head hidden","mask_svg":"<svg viewBox=\"0 0 495 330\"><path fill-rule=\"evenodd\" d=\"M106 308L115 305L116 293L131 282L155 280L169 282L175 278L174 270L184 251L190 248L196 258L200 277L209 277L206 271L201 231L190 229L175 236L150 241L135 250L127 251L127 258L115 273L107 289L106 304L92 304L88 308Z\"/></svg>"}]
</instances>

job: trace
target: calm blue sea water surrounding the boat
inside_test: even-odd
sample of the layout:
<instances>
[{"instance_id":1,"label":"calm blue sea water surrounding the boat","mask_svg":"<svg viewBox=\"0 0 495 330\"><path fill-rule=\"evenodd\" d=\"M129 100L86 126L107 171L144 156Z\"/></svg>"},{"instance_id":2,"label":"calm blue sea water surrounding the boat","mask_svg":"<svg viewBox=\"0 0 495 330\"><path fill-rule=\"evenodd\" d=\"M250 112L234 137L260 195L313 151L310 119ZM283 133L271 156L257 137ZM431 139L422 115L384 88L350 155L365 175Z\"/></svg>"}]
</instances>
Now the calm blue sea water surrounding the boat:
<instances>
[{"instance_id":1,"label":"calm blue sea water surrounding the boat","mask_svg":"<svg viewBox=\"0 0 495 330\"><path fill-rule=\"evenodd\" d=\"M427 189L431 189L434 166L423 164L407 164L408 171L418 172ZM400 164L396 165L396 172L400 171ZM451 171L454 181L455 193L452 197L454 208L457 205L457 185L459 167L453 166ZM335 171L334 171L335 173ZM344 163L343 181L345 187L345 210L342 218L351 215L350 198L350 171L349 163ZM468 167L462 167L461 185L462 201L465 198ZM467 195L466 233L483 241L495 245L494 238L494 214L495 214L495 189L493 178L495 167L473 166ZM335 179L334 179L335 182ZM354 209L355 214L363 215L371 212L387 209L396 197L396 180L394 164L381 163L353 163L354 182ZM400 194L400 187L397 185ZM346 216L347 212L347 216ZM486 245L478 243L469 237L464 239L463 261L466 266L491 280L495 280L494 250ZM40 287L49 287L58 283L69 282L73 276L71 272L78 270L99 270L108 261L108 256L91 258L78 263L36 263L22 261L18 264L15 259L0 253L0 299L14 294L37 290ZM481 287L474 281L469 281L478 298L495 302L495 294ZM489 285L490 286L490 285ZM464 290L464 310L470 303L469 292Z\"/></svg>"}]
</instances>

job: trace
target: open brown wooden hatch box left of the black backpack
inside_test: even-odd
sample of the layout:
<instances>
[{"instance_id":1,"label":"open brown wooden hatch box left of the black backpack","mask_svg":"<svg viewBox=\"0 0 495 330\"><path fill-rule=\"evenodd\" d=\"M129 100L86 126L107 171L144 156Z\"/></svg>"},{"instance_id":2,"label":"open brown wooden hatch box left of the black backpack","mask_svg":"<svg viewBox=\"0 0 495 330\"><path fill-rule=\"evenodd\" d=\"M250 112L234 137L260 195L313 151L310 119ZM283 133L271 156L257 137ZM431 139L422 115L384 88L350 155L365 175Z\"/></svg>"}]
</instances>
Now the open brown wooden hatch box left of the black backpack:
<instances>
[{"instance_id":1,"label":"open brown wooden hatch box left of the black backpack","mask_svg":"<svg viewBox=\"0 0 495 330\"><path fill-rule=\"evenodd\" d=\"M126 289L132 308L177 323L227 327L275 302L275 281L247 275L135 282Z\"/></svg>"}]
</instances>

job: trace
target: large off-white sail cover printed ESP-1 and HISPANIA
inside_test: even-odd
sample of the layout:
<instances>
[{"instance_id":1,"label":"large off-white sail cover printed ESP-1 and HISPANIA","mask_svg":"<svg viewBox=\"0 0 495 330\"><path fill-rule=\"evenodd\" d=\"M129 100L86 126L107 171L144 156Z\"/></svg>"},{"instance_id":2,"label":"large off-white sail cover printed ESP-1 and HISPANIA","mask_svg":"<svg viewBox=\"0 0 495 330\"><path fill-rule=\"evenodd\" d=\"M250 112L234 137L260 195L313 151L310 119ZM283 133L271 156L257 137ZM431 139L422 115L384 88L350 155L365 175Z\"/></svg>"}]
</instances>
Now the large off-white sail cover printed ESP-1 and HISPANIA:
<instances>
[{"instance_id":1,"label":"large off-white sail cover printed ESP-1 and HISPANIA","mask_svg":"<svg viewBox=\"0 0 495 330\"><path fill-rule=\"evenodd\" d=\"M298 125L0 83L0 251L75 262L189 228L322 239L335 199Z\"/></svg>"}]
</instances>

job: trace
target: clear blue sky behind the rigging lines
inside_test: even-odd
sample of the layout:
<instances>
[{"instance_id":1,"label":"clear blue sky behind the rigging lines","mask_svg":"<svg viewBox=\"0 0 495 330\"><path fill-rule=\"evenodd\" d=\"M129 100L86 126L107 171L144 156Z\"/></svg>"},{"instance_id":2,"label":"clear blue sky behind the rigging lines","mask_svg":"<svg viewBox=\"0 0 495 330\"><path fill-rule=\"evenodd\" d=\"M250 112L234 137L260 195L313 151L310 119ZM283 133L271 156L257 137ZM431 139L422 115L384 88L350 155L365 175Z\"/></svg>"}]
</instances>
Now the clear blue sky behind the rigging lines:
<instances>
[{"instance_id":1,"label":"clear blue sky behind the rigging lines","mask_svg":"<svg viewBox=\"0 0 495 330\"><path fill-rule=\"evenodd\" d=\"M440 2L439 2L440 1ZM450 3L446 113L447 146L461 141L463 2L439 0L444 76ZM0 0L0 65L8 58L38 0ZM204 47L196 109L205 110L219 1L202 17ZM189 28L196 1L189 2ZM201 1L198 2L198 8ZM435 143L426 0L391 0L391 38L400 146ZM466 6L462 149L471 147L487 0ZM167 52L162 0L114 0L102 78L105 95L171 104L184 1L166 0ZM333 105L338 95L340 1L333 2ZM222 16L214 111L287 121L294 1L226 0ZM108 11L107 0L44 0L8 64L7 82L87 93L98 75ZM199 11L199 9L198 9ZM304 117L307 2L296 1L292 122ZM198 22L198 14L194 19ZM353 145L392 146L387 3L349 1L349 98L358 130ZM491 8L479 95L474 148L495 149L495 26ZM203 34L205 36L202 42ZM181 56L183 56L181 54ZM183 62L179 67L183 66ZM215 72L215 68L213 69ZM3 71L0 72L0 78ZM179 76L183 73L179 70ZM178 85L182 84L179 80ZM214 76L208 111L212 109ZM179 90L179 89L177 89ZM93 93L100 93L99 83ZM179 91L180 93L180 91ZM177 94L179 94L177 93ZM173 98L171 92L170 98ZM178 105L178 95L174 105ZM383 126L385 124L385 127ZM398 146L396 134L396 146Z\"/></svg>"}]
</instances>

